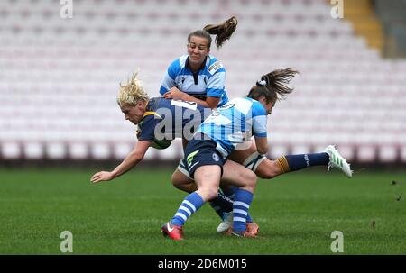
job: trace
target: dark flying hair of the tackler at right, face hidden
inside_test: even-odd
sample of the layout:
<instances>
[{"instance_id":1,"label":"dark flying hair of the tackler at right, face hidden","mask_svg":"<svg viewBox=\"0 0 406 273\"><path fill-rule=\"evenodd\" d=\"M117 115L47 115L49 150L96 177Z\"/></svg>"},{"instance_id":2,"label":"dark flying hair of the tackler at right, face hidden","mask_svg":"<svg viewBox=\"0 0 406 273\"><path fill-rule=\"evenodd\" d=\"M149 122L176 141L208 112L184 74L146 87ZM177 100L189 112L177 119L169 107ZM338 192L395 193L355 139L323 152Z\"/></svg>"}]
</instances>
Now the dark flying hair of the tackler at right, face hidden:
<instances>
[{"instance_id":1,"label":"dark flying hair of the tackler at right, face hidden","mask_svg":"<svg viewBox=\"0 0 406 273\"><path fill-rule=\"evenodd\" d=\"M256 82L248 93L248 97L258 100L261 96L265 96L267 103L283 99L293 91L289 82L298 73L296 68L273 70Z\"/></svg>"}]
</instances>

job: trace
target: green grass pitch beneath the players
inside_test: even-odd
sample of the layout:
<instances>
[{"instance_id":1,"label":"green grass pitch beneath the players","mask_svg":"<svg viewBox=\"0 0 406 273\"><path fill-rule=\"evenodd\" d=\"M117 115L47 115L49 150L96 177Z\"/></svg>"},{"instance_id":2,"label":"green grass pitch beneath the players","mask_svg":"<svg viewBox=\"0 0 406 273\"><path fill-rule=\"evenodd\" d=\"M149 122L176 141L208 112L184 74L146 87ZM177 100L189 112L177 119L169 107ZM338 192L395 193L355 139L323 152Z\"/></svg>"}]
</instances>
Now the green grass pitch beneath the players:
<instances>
[{"instance_id":1,"label":"green grass pitch beneath the players","mask_svg":"<svg viewBox=\"0 0 406 273\"><path fill-rule=\"evenodd\" d=\"M91 185L96 169L0 170L0 254L61 254L60 233L73 254L406 254L406 173L302 170L259 180L251 214L256 239L216 233L219 218L204 205L185 225L185 241L161 235L184 193L171 169L138 168ZM392 185L392 180L399 183ZM373 224L374 222L374 224Z\"/></svg>"}]
</instances>

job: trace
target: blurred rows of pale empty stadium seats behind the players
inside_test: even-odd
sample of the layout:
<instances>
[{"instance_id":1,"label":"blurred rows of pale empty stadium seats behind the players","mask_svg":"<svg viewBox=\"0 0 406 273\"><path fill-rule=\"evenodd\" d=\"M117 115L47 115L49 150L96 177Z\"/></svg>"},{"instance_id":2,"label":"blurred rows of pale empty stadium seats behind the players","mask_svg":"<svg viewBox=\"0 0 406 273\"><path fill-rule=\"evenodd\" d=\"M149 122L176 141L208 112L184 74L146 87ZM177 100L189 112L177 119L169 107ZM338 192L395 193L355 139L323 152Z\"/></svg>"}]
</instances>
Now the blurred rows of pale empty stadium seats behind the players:
<instances>
[{"instance_id":1,"label":"blurred rows of pale empty stadium seats behind the players","mask_svg":"<svg viewBox=\"0 0 406 273\"><path fill-rule=\"evenodd\" d=\"M124 159L136 137L119 83L139 68L159 96L188 33L232 15L234 35L211 50L229 97L273 69L300 71L269 119L272 159L336 144L350 162L404 165L405 0L1 1L0 162ZM145 160L181 157L174 141Z\"/></svg>"}]
</instances>

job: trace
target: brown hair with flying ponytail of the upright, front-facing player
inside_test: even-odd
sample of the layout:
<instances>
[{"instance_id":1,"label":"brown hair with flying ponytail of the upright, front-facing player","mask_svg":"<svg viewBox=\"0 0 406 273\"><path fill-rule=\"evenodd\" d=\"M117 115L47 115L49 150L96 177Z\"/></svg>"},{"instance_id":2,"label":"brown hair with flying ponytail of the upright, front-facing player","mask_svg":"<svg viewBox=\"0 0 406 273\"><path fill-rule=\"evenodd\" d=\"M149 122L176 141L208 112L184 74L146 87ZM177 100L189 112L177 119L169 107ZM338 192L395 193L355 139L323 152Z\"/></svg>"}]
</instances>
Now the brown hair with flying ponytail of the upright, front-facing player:
<instances>
[{"instance_id":1,"label":"brown hair with flying ponytail of the upright, front-facing player","mask_svg":"<svg viewBox=\"0 0 406 273\"><path fill-rule=\"evenodd\" d=\"M190 32L188 35L188 43L190 42L191 36L206 38L208 40L208 49L210 49L212 41L210 34L212 34L216 35L216 47L218 50L221 48L226 40L230 39L231 35L235 32L237 24L238 21L235 16L231 17L223 23L208 24L202 30Z\"/></svg>"}]
</instances>

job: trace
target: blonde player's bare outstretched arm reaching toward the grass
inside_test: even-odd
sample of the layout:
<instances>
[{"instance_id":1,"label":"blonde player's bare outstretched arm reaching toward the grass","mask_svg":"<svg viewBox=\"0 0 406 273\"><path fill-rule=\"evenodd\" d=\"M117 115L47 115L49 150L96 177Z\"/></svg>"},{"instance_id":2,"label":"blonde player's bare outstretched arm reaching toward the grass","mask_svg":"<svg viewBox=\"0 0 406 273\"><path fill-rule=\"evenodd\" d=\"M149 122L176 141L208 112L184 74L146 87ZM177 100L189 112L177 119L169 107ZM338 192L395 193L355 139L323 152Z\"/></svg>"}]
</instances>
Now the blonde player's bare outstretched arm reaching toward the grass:
<instances>
[{"instance_id":1,"label":"blonde player's bare outstretched arm reaching toward the grass","mask_svg":"<svg viewBox=\"0 0 406 273\"><path fill-rule=\"evenodd\" d=\"M101 181L109 181L115 177L123 175L125 172L134 168L141 160L145 152L150 147L151 141L138 141L126 158L113 171L99 171L90 178L90 182L97 183Z\"/></svg>"}]
</instances>

